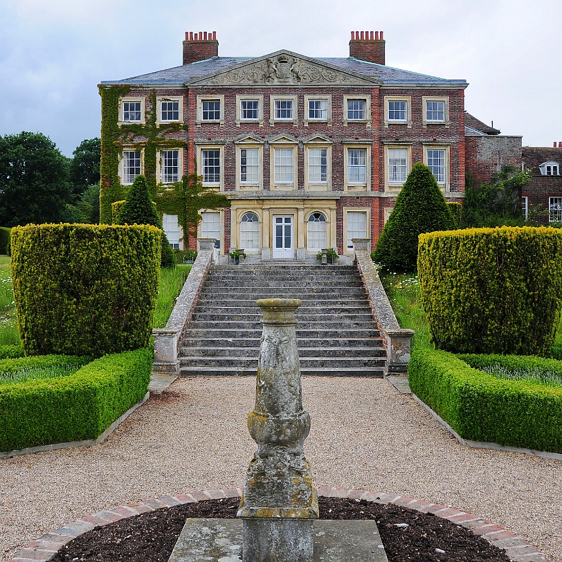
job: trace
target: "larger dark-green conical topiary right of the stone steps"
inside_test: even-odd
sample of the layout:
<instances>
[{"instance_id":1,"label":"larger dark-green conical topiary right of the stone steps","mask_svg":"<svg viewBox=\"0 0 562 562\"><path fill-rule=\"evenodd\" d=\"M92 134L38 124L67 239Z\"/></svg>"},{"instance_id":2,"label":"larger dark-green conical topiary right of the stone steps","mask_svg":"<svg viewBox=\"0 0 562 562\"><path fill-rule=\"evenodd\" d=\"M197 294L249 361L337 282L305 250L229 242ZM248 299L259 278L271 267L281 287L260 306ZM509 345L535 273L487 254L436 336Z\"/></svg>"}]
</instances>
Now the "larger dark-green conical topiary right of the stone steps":
<instances>
[{"instance_id":1,"label":"larger dark-green conical topiary right of the stone steps","mask_svg":"<svg viewBox=\"0 0 562 562\"><path fill-rule=\"evenodd\" d=\"M388 271L415 271L418 235L453 228L453 215L435 176L425 164L414 164L379 237L373 260Z\"/></svg>"}]
</instances>

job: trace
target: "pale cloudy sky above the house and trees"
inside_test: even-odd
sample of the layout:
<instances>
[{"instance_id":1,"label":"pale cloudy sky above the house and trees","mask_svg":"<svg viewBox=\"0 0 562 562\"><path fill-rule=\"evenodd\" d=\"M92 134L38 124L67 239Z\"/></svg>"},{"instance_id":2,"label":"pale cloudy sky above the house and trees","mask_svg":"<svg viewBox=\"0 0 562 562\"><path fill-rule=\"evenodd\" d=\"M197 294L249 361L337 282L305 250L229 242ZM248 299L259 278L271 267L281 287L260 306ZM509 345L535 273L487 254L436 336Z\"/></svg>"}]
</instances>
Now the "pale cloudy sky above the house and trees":
<instances>
[{"instance_id":1,"label":"pale cloudy sky above the house and trees","mask_svg":"<svg viewBox=\"0 0 562 562\"><path fill-rule=\"evenodd\" d=\"M389 66L462 78L467 111L552 146L561 21L561 0L0 0L0 135L42 132L71 156L100 135L97 84L179 66L187 30L216 30L223 56L311 57L383 30Z\"/></svg>"}]
</instances>

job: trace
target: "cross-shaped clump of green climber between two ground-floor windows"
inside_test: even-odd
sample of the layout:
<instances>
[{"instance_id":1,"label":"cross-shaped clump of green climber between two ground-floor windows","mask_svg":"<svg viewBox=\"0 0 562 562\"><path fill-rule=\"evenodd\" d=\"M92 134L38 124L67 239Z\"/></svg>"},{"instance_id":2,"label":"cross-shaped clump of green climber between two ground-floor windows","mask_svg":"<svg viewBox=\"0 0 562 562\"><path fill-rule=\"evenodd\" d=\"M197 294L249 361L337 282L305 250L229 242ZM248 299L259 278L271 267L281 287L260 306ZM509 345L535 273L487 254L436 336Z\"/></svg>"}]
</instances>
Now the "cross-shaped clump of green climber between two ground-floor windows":
<instances>
[{"instance_id":1,"label":"cross-shaped clump of green climber between two ground-floor windows","mask_svg":"<svg viewBox=\"0 0 562 562\"><path fill-rule=\"evenodd\" d=\"M158 194L162 206L174 210L178 215L179 223L183 228L185 245L189 236L197 237L197 226L201 221L201 209L222 209L230 207L230 200L226 195L215 190L203 187L201 176L190 174L183 176L181 183L176 183L172 188L162 186ZM167 211L165 211L167 212Z\"/></svg>"}]
</instances>

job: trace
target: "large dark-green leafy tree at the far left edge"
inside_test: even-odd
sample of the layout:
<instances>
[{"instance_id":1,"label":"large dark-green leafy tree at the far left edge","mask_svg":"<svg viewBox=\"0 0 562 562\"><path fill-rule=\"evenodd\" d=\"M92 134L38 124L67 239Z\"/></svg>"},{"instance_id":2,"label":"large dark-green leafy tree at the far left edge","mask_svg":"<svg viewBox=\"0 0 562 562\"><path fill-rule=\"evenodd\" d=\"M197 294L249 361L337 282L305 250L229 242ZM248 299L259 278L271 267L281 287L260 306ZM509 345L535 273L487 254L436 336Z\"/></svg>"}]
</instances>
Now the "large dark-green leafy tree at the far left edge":
<instances>
[{"instance_id":1,"label":"large dark-green leafy tree at the far left edge","mask_svg":"<svg viewBox=\"0 0 562 562\"><path fill-rule=\"evenodd\" d=\"M72 201L68 159L41 133L0 137L0 224L60 222Z\"/></svg>"}]
</instances>

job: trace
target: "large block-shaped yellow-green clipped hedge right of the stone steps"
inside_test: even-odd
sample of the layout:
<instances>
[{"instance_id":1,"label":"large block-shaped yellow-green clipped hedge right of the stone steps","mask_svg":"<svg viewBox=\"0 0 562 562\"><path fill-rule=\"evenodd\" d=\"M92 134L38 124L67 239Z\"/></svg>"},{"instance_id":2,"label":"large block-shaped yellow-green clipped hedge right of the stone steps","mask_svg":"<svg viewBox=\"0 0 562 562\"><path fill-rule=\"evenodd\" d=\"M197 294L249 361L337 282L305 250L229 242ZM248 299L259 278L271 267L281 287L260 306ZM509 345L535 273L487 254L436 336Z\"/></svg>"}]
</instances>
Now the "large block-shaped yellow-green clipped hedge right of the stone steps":
<instances>
[{"instance_id":1,"label":"large block-shaped yellow-green clipped hedge right of the stone steps","mask_svg":"<svg viewBox=\"0 0 562 562\"><path fill-rule=\"evenodd\" d=\"M419 236L419 282L435 346L550 353L562 305L562 230L472 228Z\"/></svg>"}]
</instances>

